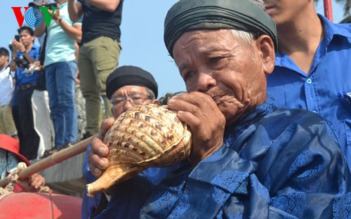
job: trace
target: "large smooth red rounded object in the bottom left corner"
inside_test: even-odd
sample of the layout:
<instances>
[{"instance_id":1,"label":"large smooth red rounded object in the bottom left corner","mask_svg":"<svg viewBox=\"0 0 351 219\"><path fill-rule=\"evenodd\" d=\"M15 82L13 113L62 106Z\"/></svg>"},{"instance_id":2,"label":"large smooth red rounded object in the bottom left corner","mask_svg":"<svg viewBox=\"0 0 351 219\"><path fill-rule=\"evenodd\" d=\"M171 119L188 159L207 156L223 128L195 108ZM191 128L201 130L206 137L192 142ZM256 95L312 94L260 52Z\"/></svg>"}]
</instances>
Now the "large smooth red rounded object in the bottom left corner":
<instances>
[{"instance_id":1,"label":"large smooth red rounded object in the bottom left corner","mask_svg":"<svg viewBox=\"0 0 351 219\"><path fill-rule=\"evenodd\" d=\"M0 199L0 218L81 218L81 199L63 194L19 192Z\"/></svg>"}]
</instances>

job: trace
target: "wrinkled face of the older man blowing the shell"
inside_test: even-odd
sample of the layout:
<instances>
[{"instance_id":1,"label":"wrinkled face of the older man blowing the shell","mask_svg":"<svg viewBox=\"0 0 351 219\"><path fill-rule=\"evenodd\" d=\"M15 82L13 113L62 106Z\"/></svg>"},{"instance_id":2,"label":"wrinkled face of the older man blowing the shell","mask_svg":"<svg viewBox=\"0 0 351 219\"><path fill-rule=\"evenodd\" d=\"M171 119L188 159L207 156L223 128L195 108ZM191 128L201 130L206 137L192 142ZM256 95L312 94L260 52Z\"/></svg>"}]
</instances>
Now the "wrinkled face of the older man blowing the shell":
<instances>
[{"instance_id":1,"label":"wrinkled face of the older man blowing the shell","mask_svg":"<svg viewBox=\"0 0 351 219\"><path fill-rule=\"evenodd\" d=\"M210 95L227 124L265 100L263 55L256 41L244 42L227 29L185 32L173 55L187 92Z\"/></svg>"}]
</instances>

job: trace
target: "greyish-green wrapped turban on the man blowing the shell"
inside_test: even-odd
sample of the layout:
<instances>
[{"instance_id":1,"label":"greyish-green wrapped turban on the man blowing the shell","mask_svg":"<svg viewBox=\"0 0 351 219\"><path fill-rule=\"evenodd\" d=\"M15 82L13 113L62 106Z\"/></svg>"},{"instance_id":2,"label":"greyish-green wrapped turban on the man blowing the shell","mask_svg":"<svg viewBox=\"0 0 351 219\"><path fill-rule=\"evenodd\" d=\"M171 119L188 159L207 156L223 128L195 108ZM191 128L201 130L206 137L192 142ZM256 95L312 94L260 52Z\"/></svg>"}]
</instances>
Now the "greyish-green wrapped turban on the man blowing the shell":
<instances>
[{"instance_id":1,"label":"greyish-green wrapped turban on the man blowing the shell","mask_svg":"<svg viewBox=\"0 0 351 219\"><path fill-rule=\"evenodd\" d=\"M164 20L164 43L173 57L173 46L185 33L199 29L239 29L267 34L278 48L277 29L270 15L249 0L180 0Z\"/></svg>"}]
</instances>

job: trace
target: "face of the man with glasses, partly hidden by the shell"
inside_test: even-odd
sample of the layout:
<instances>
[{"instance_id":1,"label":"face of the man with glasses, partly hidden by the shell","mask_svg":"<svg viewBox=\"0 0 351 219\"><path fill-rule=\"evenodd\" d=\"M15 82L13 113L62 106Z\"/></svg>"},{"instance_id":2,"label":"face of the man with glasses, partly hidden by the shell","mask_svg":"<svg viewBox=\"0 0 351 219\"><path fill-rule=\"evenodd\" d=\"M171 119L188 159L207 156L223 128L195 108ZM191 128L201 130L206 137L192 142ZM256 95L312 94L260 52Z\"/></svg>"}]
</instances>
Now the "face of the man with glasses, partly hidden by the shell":
<instances>
[{"instance_id":1,"label":"face of the man with glasses, partly hidden by the shell","mask_svg":"<svg viewBox=\"0 0 351 219\"><path fill-rule=\"evenodd\" d=\"M134 105L144 105L152 103L150 93L143 86L122 86L115 91L111 97L112 115L117 119L120 114L126 112ZM114 100L114 101L113 101Z\"/></svg>"}]
</instances>

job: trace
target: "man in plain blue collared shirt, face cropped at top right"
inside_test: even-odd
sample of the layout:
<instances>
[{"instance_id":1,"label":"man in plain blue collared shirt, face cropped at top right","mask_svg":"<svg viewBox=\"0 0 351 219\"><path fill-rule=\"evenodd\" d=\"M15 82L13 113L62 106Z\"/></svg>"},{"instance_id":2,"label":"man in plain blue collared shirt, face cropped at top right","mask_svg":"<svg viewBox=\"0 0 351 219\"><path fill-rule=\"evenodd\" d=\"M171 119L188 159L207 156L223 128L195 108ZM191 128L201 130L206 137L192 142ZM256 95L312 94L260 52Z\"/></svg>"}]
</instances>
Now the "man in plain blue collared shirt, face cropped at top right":
<instances>
[{"instance_id":1,"label":"man in plain blue collared shirt, face cropped at top right","mask_svg":"<svg viewBox=\"0 0 351 219\"><path fill-rule=\"evenodd\" d=\"M267 92L278 107L329 121L351 167L351 26L317 15L314 1L265 0L277 24L278 52Z\"/></svg>"}]
</instances>

